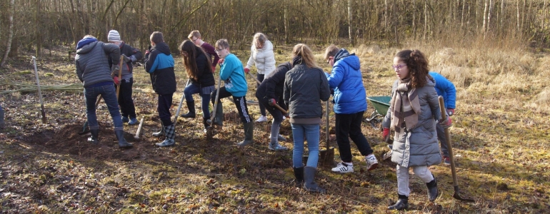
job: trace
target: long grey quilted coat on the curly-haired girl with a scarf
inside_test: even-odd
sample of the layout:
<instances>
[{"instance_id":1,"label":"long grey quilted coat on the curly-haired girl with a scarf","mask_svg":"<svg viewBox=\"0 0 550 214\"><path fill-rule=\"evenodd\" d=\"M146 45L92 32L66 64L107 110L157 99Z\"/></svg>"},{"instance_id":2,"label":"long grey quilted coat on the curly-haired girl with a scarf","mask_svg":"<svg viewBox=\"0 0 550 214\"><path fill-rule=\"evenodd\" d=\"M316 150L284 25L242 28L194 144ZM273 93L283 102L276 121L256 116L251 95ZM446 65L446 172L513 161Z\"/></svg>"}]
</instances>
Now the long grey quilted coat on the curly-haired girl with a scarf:
<instances>
[{"instance_id":1,"label":"long grey quilted coat on the curly-haired girl with a scarf","mask_svg":"<svg viewBox=\"0 0 550 214\"><path fill-rule=\"evenodd\" d=\"M393 97L396 93L399 80L394 82L391 88ZM435 81L428 81L426 86L416 88L420 102L421 113L418 115L419 122L416 126L407 131L401 131L394 136L393 154L391 161L403 167L436 165L441 163L441 153L439 153L439 143L437 143L436 119L441 119L439 110L439 101ZM399 92L397 92L399 93ZM390 101L391 103L392 101ZM382 126L388 128L391 124L391 113L393 109L388 109Z\"/></svg>"}]
</instances>

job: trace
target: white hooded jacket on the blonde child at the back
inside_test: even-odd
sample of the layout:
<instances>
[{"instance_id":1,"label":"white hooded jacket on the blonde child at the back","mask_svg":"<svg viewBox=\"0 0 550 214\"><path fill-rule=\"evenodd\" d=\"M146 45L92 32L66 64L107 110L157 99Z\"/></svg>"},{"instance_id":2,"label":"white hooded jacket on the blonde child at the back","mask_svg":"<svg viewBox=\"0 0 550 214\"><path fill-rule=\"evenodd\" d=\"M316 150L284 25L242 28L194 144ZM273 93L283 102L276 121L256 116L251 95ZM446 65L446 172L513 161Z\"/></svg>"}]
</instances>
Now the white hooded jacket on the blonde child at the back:
<instances>
[{"instance_id":1,"label":"white hooded jacket on the blonde child at the back","mask_svg":"<svg viewBox=\"0 0 550 214\"><path fill-rule=\"evenodd\" d=\"M275 70L275 54L273 53L271 41L265 41L261 49L256 49L255 45L250 48L250 58L246 63L246 68L250 69L253 64L256 64L259 74L266 76Z\"/></svg>"}]
</instances>

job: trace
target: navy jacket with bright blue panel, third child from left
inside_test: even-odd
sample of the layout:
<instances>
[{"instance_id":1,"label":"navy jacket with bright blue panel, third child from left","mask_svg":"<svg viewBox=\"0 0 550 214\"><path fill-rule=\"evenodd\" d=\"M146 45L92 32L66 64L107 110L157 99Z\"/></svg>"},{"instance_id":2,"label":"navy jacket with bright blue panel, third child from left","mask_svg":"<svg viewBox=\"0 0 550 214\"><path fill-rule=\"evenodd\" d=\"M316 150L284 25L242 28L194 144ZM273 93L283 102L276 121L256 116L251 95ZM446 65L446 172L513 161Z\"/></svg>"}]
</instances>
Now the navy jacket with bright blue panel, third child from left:
<instances>
[{"instance_id":1,"label":"navy jacket with bright blue panel, third child from left","mask_svg":"<svg viewBox=\"0 0 550 214\"><path fill-rule=\"evenodd\" d=\"M166 43L156 44L149 54L145 54L145 71L151 76L151 85L156 93L165 95L176 91L174 58Z\"/></svg>"}]
</instances>

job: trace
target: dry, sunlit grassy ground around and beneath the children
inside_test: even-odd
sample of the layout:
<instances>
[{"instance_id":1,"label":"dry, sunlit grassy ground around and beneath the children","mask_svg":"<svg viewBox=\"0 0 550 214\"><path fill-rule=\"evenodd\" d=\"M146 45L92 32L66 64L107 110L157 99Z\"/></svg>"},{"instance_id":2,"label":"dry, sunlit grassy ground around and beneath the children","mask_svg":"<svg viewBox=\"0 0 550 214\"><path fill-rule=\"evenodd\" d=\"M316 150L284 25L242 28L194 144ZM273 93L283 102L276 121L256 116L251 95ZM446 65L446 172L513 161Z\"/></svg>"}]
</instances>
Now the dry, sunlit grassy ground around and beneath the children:
<instances>
[{"instance_id":1,"label":"dry, sunlit grassy ground around and beneath the children","mask_svg":"<svg viewBox=\"0 0 550 214\"><path fill-rule=\"evenodd\" d=\"M439 179L441 195L426 200L426 186L411 177L411 213L548 213L549 204L549 72L547 54L536 54L521 44L446 44L411 42L439 71L456 83L458 101L451 128L461 195L476 203L454 200L451 172L444 165L431 166ZM276 60L291 60L291 46L276 46ZM319 66L329 71L324 49L313 47ZM395 76L391 62L397 48L360 45L349 48L361 58L368 96L387 96ZM234 51L246 63L248 52ZM39 61L43 84L75 83L74 68L66 50ZM0 70L6 81L31 83L34 74L26 58ZM234 106L224 101L226 121L211 141L201 135L200 118L180 118L178 146L155 148L160 141L149 134L158 128L156 96L149 76L136 68L135 93L139 116L146 118L144 135L136 148L120 151L104 135L101 148L86 145L85 138L59 136L79 131L85 120L82 94L45 92L49 122L39 122L34 93L0 97L7 108L8 128L0 131L0 208L3 213L383 213L396 199L394 165L381 162L364 171L364 161L352 146L355 173L336 175L319 168L318 183L329 190L317 195L292 187L291 151L267 149L269 125L255 126L254 146L238 149L243 131ZM176 58L181 97L186 77ZM6 90L7 86L0 86ZM249 79L247 98L254 99L256 83ZM194 97L196 100L198 96ZM173 113L175 112L174 106ZM249 106L254 118L257 106ZM182 111L186 111L183 108ZM197 108L200 112L200 108ZM372 108L369 107L370 114ZM367 114L366 113L366 114ZM109 130L110 117L100 106L99 121ZM334 124L334 116L331 117ZM74 130L69 130L72 127ZM76 128L74 128L76 127ZM126 126L134 132L135 126ZM364 125L364 134L376 156L387 151L381 133ZM281 133L290 138L288 122ZM324 133L321 132L324 138ZM70 138L79 153L52 148L52 141ZM334 135L332 135L334 139ZM283 143L291 147L290 142ZM56 150L57 149L57 150ZM108 153L109 155L102 155ZM130 156L131 155L131 156ZM121 158L123 157L123 158ZM336 153L336 159L339 159Z\"/></svg>"}]
</instances>

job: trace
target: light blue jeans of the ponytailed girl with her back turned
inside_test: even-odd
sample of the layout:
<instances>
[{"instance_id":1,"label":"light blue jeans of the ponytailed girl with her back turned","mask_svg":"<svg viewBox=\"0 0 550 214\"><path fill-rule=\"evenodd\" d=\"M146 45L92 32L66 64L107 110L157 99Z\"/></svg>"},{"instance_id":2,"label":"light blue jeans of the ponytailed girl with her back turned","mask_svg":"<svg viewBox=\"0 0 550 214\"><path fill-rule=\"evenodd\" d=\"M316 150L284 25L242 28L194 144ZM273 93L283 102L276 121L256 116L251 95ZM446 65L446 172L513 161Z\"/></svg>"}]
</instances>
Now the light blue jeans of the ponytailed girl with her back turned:
<instances>
[{"instance_id":1,"label":"light blue jeans of the ponytailed girl with her back turned","mask_svg":"<svg viewBox=\"0 0 550 214\"><path fill-rule=\"evenodd\" d=\"M319 124L296 124L291 123L294 148L292 150L292 166L302 167L301 158L304 154L304 136L307 138L307 149L309 155L306 166L317 168L319 161Z\"/></svg>"}]
</instances>

